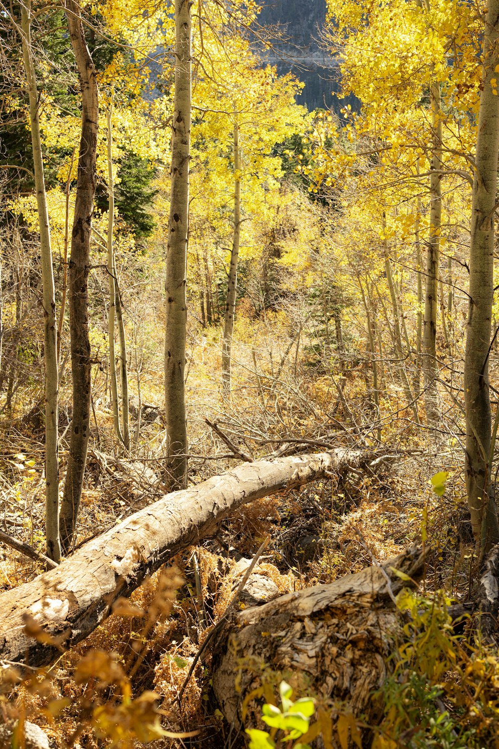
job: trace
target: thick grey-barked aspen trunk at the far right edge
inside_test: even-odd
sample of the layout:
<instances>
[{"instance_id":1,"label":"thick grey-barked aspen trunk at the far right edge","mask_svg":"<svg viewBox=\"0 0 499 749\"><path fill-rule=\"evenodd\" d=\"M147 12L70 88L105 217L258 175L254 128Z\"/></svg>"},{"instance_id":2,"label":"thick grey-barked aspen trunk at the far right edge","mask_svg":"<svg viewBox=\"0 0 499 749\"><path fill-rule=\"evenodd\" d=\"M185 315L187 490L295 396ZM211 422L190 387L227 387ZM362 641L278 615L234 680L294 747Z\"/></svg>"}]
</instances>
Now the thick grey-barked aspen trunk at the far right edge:
<instances>
[{"instance_id":1,"label":"thick grey-barked aspen trunk at the far right edge","mask_svg":"<svg viewBox=\"0 0 499 749\"><path fill-rule=\"evenodd\" d=\"M494 222L499 151L499 97L491 79L499 63L499 0L487 1L483 40L483 88L478 116L471 207L470 287L465 352L465 473L471 525L480 557L499 542L491 482L489 346L494 295Z\"/></svg>"}]
</instances>

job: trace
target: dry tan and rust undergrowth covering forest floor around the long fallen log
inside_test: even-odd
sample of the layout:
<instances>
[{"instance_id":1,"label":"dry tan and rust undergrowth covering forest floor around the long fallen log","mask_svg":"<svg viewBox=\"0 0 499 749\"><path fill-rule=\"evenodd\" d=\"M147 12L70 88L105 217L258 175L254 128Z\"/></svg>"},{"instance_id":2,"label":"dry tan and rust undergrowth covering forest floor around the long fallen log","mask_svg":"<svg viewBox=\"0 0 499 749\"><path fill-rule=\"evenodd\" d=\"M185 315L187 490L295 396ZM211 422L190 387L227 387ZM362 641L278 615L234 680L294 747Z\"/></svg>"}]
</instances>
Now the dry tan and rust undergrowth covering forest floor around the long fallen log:
<instances>
[{"instance_id":1,"label":"dry tan and rust undergrowth covering forest floor around the long fallen log","mask_svg":"<svg viewBox=\"0 0 499 749\"><path fill-rule=\"evenodd\" d=\"M196 328L190 338L189 483L222 473L235 463L233 457L227 457L230 451L209 429L205 418L218 422L231 440L254 458L279 449L320 451L325 443L349 447L376 444L374 430L369 432L364 427L372 403L362 367L339 362L343 372L331 375L317 361L310 342L302 340L299 351L293 350L286 321L279 315L269 317L263 321L239 318L230 401L221 394L219 331ZM76 548L164 493L159 335L156 341L149 341L149 348L147 372L144 369L140 376L141 403L131 377L132 392L135 389L131 426L136 434L132 456L116 449L104 375L95 372L94 425ZM271 588L279 593L329 583L360 571L372 564L373 558L383 561L394 557L415 542L431 548L423 590L443 588L458 600L468 598L471 537L464 520L456 524L456 518L465 518L459 449L452 440L432 437L412 425L408 413L399 409L397 398L401 395L396 386L393 395L391 410L396 416L383 424L378 447L386 455L382 455L376 470L333 476L302 491L243 507L227 518L216 539L172 560L176 574L184 581L174 598L161 573L132 595L134 606L159 612L155 621L147 616L145 623L144 616L111 616L84 643L61 656L52 669L55 678L49 688L40 690L36 680L18 688L16 709L22 706L25 715L43 727L58 748L63 748L72 735L76 747L100 746L94 731L85 724L85 686L73 676L82 656L102 649L117 655L134 694L144 690L159 694L168 730L198 732L189 739L189 746L215 748L241 743L242 739L236 741L230 734L212 701L209 661L198 664L181 709L177 697L196 652L223 615L246 560L251 560L266 537L269 545L254 571L268 578ZM36 394L31 393L31 398L36 402ZM140 406L141 427L136 431ZM68 413L70 404L64 400L63 390L62 475ZM28 416L19 413L8 425L2 425L2 431L0 524L11 536L43 551L43 433L39 411L33 408ZM441 470L449 471L450 479L444 496L438 497L429 479ZM37 563L10 548L1 548L0 591L18 586L40 571ZM170 603L158 608L158 597L165 595ZM100 699L105 703L105 694ZM58 706L56 710L54 705ZM178 739L178 746L185 746L183 741L187 739ZM176 743L168 739L166 745Z\"/></svg>"}]
</instances>

